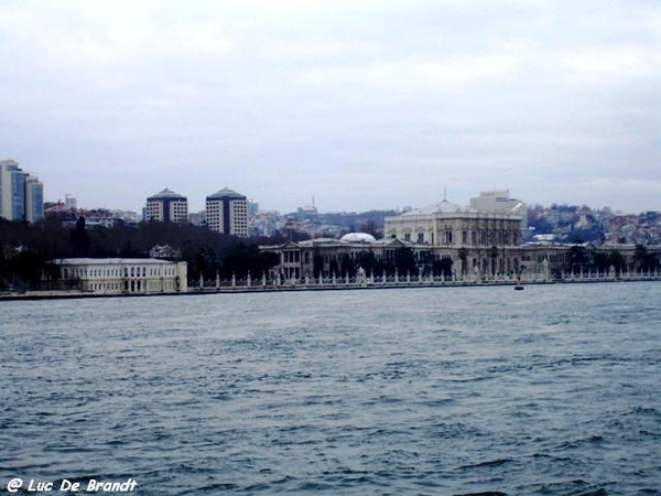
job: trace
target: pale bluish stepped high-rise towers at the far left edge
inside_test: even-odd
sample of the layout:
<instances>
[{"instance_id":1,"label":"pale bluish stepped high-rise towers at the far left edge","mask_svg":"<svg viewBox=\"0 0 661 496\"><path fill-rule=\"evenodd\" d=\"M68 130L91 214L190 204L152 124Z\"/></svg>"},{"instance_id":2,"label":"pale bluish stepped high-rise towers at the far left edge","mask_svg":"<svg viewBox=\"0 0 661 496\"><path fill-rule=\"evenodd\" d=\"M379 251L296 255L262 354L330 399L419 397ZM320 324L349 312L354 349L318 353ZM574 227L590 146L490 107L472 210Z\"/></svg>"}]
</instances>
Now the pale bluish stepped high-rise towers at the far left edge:
<instances>
[{"instance_id":1,"label":"pale bluish stepped high-rise towers at the far left edge","mask_svg":"<svg viewBox=\"0 0 661 496\"><path fill-rule=\"evenodd\" d=\"M0 217L33 223L44 216L44 185L14 160L0 162Z\"/></svg>"}]
</instances>

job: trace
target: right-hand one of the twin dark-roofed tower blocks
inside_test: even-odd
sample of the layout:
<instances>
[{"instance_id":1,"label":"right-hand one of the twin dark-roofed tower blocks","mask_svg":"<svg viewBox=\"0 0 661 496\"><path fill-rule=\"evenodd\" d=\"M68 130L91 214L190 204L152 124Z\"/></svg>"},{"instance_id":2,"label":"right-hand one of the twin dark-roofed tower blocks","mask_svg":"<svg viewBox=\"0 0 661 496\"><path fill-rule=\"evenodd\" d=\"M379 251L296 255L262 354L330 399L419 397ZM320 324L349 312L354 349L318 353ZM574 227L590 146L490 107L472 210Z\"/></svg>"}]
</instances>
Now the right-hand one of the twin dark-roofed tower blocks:
<instances>
[{"instance_id":1,"label":"right-hand one of the twin dark-roofed tower blocks","mask_svg":"<svg viewBox=\"0 0 661 496\"><path fill-rule=\"evenodd\" d=\"M234 236L248 236L248 200L227 187L206 197L209 229Z\"/></svg>"}]
</instances>

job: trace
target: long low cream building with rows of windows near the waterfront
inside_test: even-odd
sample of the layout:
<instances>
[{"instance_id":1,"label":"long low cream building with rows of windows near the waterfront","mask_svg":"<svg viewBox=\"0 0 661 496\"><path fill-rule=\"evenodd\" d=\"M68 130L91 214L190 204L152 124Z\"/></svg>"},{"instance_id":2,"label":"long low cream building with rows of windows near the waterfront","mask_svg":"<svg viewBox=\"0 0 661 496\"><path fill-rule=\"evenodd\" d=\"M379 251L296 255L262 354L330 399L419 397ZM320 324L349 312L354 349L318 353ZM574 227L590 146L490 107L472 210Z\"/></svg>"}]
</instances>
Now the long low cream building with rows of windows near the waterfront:
<instances>
[{"instance_id":1,"label":"long low cream building with rows of windows near the waterfront","mask_svg":"<svg viewBox=\"0 0 661 496\"><path fill-rule=\"evenodd\" d=\"M184 293L187 263L155 258L63 258L63 281L78 281L83 291L101 294Z\"/></svg>"}]
</instances>

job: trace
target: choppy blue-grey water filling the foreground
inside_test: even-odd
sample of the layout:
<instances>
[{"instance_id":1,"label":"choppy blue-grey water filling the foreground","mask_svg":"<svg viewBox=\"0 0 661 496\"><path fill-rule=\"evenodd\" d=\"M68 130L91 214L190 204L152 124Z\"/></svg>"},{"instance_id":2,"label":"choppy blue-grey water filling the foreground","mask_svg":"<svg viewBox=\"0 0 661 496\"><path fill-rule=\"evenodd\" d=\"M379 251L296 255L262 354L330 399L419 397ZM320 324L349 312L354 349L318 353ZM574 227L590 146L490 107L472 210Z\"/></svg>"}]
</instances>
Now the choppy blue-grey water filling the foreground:
<instances>
[{"instance_id":1,"label":"choppy blue-grey water filling the foreground","mask_svg":"<svg viewBox=\"0 0 661 496\"><path fill-rule=\"evenodd\" d=\"M1 302L0 487L661 494L660 303L654 282Z\"/></svg>"}]
</instances>

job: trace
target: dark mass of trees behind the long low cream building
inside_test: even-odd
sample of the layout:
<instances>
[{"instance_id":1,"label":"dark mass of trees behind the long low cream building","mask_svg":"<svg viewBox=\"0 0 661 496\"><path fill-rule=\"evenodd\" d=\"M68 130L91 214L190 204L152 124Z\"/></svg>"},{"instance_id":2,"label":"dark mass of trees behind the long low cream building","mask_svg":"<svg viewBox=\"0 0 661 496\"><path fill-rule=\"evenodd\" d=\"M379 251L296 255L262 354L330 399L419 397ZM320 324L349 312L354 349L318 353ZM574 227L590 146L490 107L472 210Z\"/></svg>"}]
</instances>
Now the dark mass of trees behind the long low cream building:
<instances>
[{"instance_id":1,"label":"dark mass of trees behind the long low cream building","mask_svg":"<svg viewBox=\"0 0 661 496\"><path fill-rule=\"evenodd\" d=\"M280 260L259 251L263 239L240 240L205 227L174 223L141 223L110 228L86 228L79 218L75 226L48 217L34 224L0 218L0 290L36 288L42 274L56 279L51 260L69 257L148 258L154 246L170 246L176 259L188 263L188 273L205 279L223 279L268 272ZM167 258L167 257L165 257Z\"/></svg>"}]
</instances>

